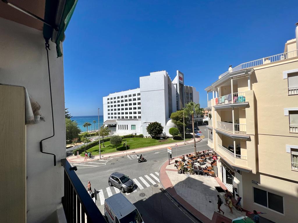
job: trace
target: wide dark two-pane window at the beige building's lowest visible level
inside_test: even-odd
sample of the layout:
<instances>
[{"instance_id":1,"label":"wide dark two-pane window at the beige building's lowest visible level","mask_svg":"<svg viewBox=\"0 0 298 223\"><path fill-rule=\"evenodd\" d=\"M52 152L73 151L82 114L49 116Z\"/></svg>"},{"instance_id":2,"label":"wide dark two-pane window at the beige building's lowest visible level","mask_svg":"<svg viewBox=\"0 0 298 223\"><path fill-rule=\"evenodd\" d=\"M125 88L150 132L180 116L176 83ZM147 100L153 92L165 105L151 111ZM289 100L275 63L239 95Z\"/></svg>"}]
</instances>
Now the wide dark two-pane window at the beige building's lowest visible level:
<instances>
[{"instance_id":1,"label":"wide dark two-pane window at the beige building's lowest visible level","mask_svg":"<svg viewBox=\"0 0 298 223\"><path fill-rule=\"evenodd\" d=\"M254 189L254 203L262 205L271 210L277 211L283 214L283 197L277 194L264 191L262 189Z\"/></svg>"}]
</instances>

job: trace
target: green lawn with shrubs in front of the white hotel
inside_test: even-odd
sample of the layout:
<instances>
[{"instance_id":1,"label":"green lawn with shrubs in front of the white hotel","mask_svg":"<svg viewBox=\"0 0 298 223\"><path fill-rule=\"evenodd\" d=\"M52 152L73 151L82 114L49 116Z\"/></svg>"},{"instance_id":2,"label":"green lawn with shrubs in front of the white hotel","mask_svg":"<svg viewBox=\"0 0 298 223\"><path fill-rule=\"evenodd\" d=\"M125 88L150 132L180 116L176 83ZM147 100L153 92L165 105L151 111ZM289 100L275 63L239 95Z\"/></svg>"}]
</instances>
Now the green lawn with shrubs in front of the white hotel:
<instances>
[{"instance_id":1,"label":"green lawn with shrubs in front of the white hotel","mask_svg":"<svg viewBox=\"0 0 298 223\"><path fill-rule=\"evenodd\" d=\"M187 138L187 137L185 137ZM100 143L100 152L101 154L104 153L114 153L118 151L125 151L125 147L123 147L123 143L127 141L127 150L131 149L137 149L137 148L142 148L142 147L148 147L148 146L156 146L156 145L162 145L162 144L168 144L168 143L175 143L175 142L181 142L181 140L173 140L173 139L166 139L164 142L158 142L159 139L151 139L151 138L127 138L122 140L122 145L118 147L116 150L116 146L111 145L111 143L105 142L105 147L103 147L103 143ZM92 155L98 155L99 154L99 146L96 145L94 147L91 147L90 149L87 150L87 152L91 152ZM82 153L80 156L85 156L84 153Z\"/></svg>"}]
</instances>

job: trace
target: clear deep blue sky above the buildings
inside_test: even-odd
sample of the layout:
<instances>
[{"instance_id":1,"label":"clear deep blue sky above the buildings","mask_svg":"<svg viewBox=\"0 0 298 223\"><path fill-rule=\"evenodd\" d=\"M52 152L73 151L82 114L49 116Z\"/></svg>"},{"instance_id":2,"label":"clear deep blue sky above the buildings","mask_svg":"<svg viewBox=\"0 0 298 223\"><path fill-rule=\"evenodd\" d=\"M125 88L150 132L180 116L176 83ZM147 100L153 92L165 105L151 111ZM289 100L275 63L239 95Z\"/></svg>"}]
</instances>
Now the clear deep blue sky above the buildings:
<instances>
[{"instance_id":1,"label":"clear deep blue sky above the buildings","mask_svg":"<svg viewBox=\"0 0 298 223\"><path fill-rule=\"evenodd\" d=\"M297 1L83 1L63 43L65 107L103 114L103 96L139 87L139 77L184 73L200 92L243 62L283 53L295 38Z\"/></svg>"}]
</instances>

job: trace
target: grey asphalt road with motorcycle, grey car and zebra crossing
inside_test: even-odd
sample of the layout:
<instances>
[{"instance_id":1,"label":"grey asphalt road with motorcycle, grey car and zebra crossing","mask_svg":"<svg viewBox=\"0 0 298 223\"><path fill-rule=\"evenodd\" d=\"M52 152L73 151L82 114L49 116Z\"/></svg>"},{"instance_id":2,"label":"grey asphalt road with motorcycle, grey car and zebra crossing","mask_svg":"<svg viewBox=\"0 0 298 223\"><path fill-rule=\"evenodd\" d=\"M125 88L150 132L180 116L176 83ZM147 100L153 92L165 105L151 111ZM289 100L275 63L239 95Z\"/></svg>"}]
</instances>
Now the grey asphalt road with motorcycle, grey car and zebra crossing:
<instances>
[{"instance_id":1,"label":"grey asphalt road with motorcycle, grey car and zebra crossing","mask_svg":"<svg viewBox=\"0 0 298 223\"><path fill-rule=\"evenodd\" d=\"M207 135L206 127L200 127L203 135ZM207 150L207 139L196 143L197 151ZM193 145L179 146L178 156L193 153ZM122 193L121 191L108 185L108 177L112 172L122 172L133 179L137 186L131 193L125 193L136 208L142 213L144 222L196 222L189 218L186 211L163 192L162 185L159 183L159 169L165 160L168 159L167 149L145 152L142 155L147 162L138 163L137 156L140 154L111 158L109 160L94 161L84 164L75 164L77 166L77 175L86 186L91 182L92 190L95 188L97 194L97 206L104 214L104 200L113 194ZM173 157L176 156L176 148L173 148Z\"/></svg>"}]
</instances>

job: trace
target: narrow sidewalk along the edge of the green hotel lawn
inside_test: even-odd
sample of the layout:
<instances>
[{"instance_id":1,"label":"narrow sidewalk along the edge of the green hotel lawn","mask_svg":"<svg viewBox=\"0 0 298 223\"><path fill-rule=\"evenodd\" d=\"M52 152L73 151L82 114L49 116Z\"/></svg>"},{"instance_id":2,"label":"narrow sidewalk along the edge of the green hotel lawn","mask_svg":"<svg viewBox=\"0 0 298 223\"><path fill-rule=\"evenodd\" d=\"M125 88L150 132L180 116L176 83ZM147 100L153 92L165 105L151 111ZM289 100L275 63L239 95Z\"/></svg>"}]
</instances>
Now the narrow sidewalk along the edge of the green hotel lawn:
<instances>
[{"instance_id":1,"label":"narrow sidewalk along the edge of the green hotel lawn","mask_svg":"<svg viewBox=\"0 0 298 223\"><path fill-rule=\"evenodd\" d=\"M201 138L195 138L195 142L200 142L202 139ZM178 146L184 145L184 142L177 142L175 143ZM126 156L126 155L131 155L134 153L143 153L143 152L148 152L148 151L153 151L153 150L159 150L167 147L175 147L175 144L170 143L170 144L163 144L163 145L157 145L157 146L150 146L150 147L143 147L143 148L138 148L138 149L133 149L133 150L127 150L126 151L119 151L116 153L104 153L101 155L101 159L107 159L107 158L113 158L113 157L118 157L118 156ZM193 139L185 141L185 145L193 144ZM85 159L84 157L81 156L69 156L66 158L67 161L70 163L85 163L85 162L91 162L91 161L97 161L100 159L99 155L94 156L92 159Z\"/></svg>"}]
</instances>

